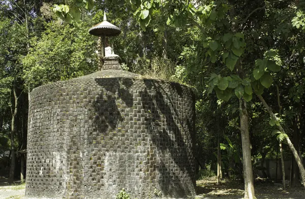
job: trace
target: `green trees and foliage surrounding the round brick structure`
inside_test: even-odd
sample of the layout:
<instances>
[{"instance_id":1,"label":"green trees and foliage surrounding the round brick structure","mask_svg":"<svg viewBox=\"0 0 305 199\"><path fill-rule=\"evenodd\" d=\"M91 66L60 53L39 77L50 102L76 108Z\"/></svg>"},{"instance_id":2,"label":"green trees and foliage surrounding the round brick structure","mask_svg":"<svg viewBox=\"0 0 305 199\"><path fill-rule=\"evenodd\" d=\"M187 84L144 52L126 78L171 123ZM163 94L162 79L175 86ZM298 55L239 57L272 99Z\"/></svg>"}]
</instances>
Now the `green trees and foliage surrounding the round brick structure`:
<instances>
[{"instance_id":1,"label":"green trees and foliage surrounding the round brick structure","mask_svg":"<svg viewBox=\"0 0 305 199\"><path fill-rule=\"evenodd\" d=\"M265 159L282 156L292 160L291 186L299 172L305 180L304 1L64 3L0 4L1 171L8 160L20 167L28 92L97 70L97 38L88 28L106 10L122 30L110 43L125 70L194 90L199 178L243 178L245 198L254 198L253 171L270 177Z\"/></svg>"}]
</instances>

